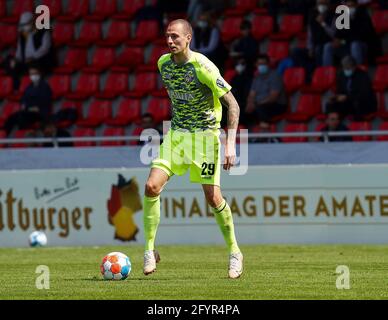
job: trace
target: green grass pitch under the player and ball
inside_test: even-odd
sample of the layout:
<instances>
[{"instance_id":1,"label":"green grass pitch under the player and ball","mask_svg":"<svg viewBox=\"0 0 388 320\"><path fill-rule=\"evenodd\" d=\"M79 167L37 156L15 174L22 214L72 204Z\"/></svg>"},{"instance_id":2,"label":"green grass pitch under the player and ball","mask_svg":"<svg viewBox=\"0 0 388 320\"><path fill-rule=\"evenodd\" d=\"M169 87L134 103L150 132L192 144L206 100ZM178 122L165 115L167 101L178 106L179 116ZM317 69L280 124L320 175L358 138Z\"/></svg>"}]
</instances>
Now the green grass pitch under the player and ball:
<instances>
[{"instance_id":1,"label":"green grass pitch under the player and ball","mask_svg":"<svg viewBox=\"0 0 388 320\"><path fill-rule=\"evenodd\" d=\"M141 246L0 249L0 299L388 299L388 246L249 245L240 279L227 278L222 246L159 246L156 273L142 274ZM127 254L132 272L105 281L100 261ZM38 265L50 268L50 289L35 287ZM335 270L350 268L350 289Z\"/></svg>"}]
</instances>

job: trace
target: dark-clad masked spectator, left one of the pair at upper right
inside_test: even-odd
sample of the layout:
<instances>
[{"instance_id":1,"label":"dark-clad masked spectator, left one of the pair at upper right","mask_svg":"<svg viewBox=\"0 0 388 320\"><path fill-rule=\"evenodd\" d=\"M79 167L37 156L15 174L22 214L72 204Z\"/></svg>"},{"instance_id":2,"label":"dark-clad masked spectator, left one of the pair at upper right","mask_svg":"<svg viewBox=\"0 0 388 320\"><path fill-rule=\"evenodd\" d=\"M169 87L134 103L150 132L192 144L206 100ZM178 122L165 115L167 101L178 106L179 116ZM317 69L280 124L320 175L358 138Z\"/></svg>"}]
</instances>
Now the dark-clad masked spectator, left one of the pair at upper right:
<instances>
[{"instance_id":1,"label":"dark-clad masked spectator, left one of the pair at upper right","mask_svg":"<svg viewBox=\"0 0 388 320\"><path fill-rule=\"evenodd\" d=\"M322 65L323 48L325 44L332 42L335 30L335 17L330 9L329 0L317 0L307 27L309 56L315 58L317 66Z\"/></svg>"}]
</instances>

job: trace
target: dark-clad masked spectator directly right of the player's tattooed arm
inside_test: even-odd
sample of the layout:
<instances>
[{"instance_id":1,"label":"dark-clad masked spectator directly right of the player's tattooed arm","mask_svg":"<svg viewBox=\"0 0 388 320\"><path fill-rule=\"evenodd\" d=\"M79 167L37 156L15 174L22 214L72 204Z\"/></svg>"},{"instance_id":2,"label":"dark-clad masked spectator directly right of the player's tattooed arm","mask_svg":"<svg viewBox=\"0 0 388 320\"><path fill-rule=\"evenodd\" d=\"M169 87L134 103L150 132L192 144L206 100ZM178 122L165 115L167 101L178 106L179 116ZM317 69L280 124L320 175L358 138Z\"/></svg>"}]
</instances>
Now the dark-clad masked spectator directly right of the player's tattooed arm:
<instances>
[{"instance_id":1,"label":"dark-clad masked spectator directly right of the player's tattooed arm","mask_svg":"<svg viewBox=\"0 0 388 320\"><path fill-rule=\"evenodd\" d=\"M253 80L252 69L248 67L246 60L241 58L237 61L235 70L236 74L230 81L230 85L232 86L232 93L240 106L240 123L247 125L248 120L245 109ZM223 118L226 119L226 116Z\"/></svg>"}]
</instances>

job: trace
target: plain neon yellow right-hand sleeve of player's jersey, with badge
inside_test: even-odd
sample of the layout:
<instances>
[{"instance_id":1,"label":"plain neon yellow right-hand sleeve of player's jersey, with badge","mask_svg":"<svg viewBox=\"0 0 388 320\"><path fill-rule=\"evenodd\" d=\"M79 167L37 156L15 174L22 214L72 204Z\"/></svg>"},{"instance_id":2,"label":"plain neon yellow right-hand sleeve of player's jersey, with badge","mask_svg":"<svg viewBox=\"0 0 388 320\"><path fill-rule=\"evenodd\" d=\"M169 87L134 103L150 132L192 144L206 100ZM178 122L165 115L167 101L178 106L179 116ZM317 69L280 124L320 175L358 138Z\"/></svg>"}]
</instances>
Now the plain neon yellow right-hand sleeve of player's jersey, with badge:
<instances>
[{"instance_id":1,"label":"plain neon yellow right-hand sleeve of player's jersey, with badge","mask_svg":"<svg viewBox=\"0 0 388 320\"><path fill-rule=\"evenodd\" d=\"M207 85L217 98L221 98L232 89L213 63L200 62L199 74L199 80Z\"/></svg>"}]
</instances>

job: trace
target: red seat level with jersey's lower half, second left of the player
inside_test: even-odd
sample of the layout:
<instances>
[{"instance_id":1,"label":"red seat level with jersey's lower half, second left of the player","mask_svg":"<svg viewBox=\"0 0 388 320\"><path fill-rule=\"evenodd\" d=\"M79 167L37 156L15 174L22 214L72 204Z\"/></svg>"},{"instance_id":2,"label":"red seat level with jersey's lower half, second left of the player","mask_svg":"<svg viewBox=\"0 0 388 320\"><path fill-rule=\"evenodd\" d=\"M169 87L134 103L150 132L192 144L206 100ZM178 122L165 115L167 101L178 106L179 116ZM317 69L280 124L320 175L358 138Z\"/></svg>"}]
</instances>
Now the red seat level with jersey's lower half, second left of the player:
<instances>
[{"instance_id":1,"label":"red seat level with jersey's lower half, second left of the player","mask_svg":"<svg viewBox=\"0 0 388 320\"><path fill-rule=\"evenodd\" d=\"M105 120L109 126L127 126L130 123L138 123L141 118L141 100L123 99L121 100L117 114Z\"/></svg>"}]
</instances>

